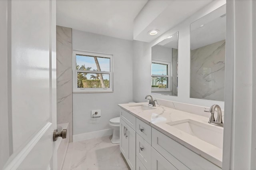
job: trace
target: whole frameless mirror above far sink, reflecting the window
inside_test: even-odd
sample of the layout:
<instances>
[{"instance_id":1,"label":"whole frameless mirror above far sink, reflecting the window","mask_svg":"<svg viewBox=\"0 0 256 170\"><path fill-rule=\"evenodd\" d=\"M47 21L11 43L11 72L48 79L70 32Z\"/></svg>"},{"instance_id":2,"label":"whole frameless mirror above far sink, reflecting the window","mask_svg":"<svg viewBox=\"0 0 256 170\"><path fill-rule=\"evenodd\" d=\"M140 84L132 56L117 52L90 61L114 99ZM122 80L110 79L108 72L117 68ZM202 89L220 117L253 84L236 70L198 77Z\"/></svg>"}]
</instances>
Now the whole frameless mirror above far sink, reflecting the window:
<instances>
[{"instance_id":1,"label":"whole frameless mirror above far sink, reflecting the window","mask_svg":"<svg viewBox=\"0 0 256 170\"><path fill-rule=\"evenodd\" d=\"M167 36L151 49L151 93L178 96L178 36Z\"/></svg>"}]
</instances>

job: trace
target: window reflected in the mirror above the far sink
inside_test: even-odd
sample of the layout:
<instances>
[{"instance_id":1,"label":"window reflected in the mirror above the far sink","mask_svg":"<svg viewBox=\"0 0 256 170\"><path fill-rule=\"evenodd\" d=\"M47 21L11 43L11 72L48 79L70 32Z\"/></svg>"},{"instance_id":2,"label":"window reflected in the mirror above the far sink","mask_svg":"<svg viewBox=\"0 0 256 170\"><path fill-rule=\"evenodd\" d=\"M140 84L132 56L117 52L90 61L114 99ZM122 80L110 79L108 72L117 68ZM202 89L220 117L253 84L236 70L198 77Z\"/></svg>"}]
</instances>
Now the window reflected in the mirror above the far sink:
<instances>
[{"instance_id":1,"label":"window reflected in the mirror above the far sink","mask_svg":"<svg viewBox=\"0 0 256 170\"><path fill-rule=\"evenodd\" d=\"M151 65L151 91L170 91L170 63L152 60Z\"/></svg>"}]
</instances>

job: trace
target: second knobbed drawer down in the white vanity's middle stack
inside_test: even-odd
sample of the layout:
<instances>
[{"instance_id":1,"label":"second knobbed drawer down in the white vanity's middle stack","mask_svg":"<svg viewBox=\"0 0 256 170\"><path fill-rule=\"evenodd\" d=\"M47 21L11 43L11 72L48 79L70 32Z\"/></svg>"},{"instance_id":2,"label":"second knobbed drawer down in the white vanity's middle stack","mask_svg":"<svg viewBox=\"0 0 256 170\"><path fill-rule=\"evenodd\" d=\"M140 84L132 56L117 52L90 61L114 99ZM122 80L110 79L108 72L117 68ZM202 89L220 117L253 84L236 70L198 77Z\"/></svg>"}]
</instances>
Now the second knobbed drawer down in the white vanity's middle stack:
<instances>
[{"instance_id":1,"label":"second knobbed drawer down in the white vanity's middle stack","mask_svg":"<svg viewBox=\"0 0 256 170\"><path fill-rule=\"evenodd\" d=\"M151 169L151 145L136 133L136 156L148 170Z\"/></svg>"}]
</instances>

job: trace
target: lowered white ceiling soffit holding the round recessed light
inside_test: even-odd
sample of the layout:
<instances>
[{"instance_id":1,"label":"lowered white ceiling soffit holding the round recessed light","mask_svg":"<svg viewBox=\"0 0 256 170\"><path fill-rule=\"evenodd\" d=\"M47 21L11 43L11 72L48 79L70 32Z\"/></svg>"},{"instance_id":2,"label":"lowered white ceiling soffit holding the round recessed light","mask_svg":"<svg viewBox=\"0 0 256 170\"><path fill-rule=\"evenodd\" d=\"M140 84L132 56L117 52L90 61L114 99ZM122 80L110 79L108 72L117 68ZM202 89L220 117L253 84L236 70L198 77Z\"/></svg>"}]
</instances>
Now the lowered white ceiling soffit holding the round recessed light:
<instances>
[{"instance_id":1,"label":"lowered white ceiling soffit holding the round recessed light","mask_svg":"<svg viewBox=\"0 0 256 170\"><path fill-rule=\"evenodd\" d=\"M149 0L134 20L134 40L151 42L212 0ZM150 30L159 30L155 36Z\"/></svg>"}]
</instances>

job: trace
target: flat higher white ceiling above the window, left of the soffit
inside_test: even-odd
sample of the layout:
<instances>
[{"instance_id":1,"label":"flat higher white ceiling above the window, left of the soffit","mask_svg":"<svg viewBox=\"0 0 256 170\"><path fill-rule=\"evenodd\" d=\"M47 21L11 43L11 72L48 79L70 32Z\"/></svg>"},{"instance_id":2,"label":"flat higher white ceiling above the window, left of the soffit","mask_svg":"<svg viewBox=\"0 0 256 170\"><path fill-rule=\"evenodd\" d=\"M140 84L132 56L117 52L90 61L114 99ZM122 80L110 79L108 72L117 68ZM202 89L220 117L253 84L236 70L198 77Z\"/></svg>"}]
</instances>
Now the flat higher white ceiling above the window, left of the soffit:
<instances>
[{"instance_id":1,"label":"flat higher white ceiling above the window, left of the soffit","mask_svg":"<svg viewBox=\"0 0 256 170\"><path fill-rule=\"evenodd\" d=\"M133 21L148 0L57 0L56 23L133 40Z\"/></svg>"}]
</instances>

